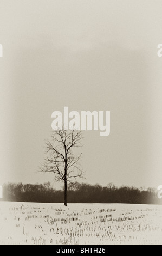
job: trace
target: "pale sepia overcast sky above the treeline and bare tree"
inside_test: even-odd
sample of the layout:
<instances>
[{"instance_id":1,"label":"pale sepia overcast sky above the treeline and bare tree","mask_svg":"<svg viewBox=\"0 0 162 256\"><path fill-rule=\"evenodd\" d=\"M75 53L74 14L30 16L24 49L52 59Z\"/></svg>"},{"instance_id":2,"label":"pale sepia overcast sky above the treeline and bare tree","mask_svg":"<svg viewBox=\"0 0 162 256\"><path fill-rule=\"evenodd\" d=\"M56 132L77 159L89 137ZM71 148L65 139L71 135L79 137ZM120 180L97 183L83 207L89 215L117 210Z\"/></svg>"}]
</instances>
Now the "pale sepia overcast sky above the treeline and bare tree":
<instances>
[{"instance_id":1,"label":"pale sepia overcast sky above the treeline and bare tree","mask_svg":"<svg viewBox=\"0 0 162 256\"><path fill-rule=\"evenodd\" d=\"M51 113L111 111L83 132L89 183L162 183L161 0L0 0L0 184L40 174ZM57 185L58 187L58 185Z\"/></svg>"}]
</instances>

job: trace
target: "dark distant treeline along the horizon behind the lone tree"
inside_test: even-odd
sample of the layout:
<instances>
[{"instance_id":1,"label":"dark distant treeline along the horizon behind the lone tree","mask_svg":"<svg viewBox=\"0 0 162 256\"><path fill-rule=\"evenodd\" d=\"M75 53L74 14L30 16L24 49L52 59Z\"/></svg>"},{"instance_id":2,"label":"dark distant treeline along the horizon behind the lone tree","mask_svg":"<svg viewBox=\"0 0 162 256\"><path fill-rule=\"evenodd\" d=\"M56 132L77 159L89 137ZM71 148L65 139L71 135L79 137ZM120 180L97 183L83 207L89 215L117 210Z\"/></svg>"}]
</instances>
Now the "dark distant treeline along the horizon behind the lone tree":
<instances>
[{"instance_id":1,"label":"dark distant treeline along the horizon behind the lone tree","mask_svg":"<svg viewBox=\"0 0 162 256\"><path fill-rule=\"evenodd\" d=\"M4 184L3 201L63 203L64 192L55 190L50 183L44 184ZM102 187L98 184L70 184L68 203L126 203L126 204L161 204L157 192L152 188L138 189L113 184Z\"/></svg>"}]
</instances>

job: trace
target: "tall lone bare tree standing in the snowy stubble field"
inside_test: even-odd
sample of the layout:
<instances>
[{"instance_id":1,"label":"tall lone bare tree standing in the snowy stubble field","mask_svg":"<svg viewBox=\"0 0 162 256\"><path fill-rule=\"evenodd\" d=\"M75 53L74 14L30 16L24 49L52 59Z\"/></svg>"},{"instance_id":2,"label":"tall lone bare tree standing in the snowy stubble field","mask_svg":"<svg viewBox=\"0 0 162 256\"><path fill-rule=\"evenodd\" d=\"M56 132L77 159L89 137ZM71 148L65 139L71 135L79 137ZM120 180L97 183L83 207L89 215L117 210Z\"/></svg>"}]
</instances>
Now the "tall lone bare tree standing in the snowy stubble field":
<instances>
[{"instance_id":1,"label":"tall lone bare tree standing in the snowy stubble field","mask_svg":"<svg viewBox=\"0 0 162 256\"><path fill-rule=\"evenodd\" d=\"M81 154L75 154L74 148L81 147L81 131L54 130L46 143L46 154L42 172L54 173L56 181L64 183L64 205L67 206L68 182L74 184L77 178L83 178L79 160Z\"/></svg>"}]
</instances>

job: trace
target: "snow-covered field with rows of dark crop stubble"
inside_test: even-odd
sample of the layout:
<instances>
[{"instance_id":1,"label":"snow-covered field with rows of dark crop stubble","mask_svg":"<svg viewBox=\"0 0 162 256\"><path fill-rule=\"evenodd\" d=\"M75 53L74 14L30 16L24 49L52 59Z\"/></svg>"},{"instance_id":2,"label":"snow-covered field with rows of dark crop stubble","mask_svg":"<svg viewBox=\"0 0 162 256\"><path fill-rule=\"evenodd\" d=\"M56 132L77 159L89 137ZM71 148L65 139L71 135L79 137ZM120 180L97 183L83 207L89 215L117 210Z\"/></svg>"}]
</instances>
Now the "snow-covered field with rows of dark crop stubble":
<instances>
[{"instance_id":1,"label":"snow-covered field with rows of dark crop stubble","mask_svg":"<svg viewBox=\"0 0 162 256\"><path fill-rule=\"evenodd\" d=\"M162 245L162 206L0 202L0 245Z\"/></svg>"}]
</instances>

